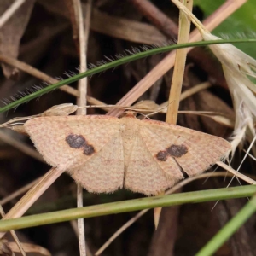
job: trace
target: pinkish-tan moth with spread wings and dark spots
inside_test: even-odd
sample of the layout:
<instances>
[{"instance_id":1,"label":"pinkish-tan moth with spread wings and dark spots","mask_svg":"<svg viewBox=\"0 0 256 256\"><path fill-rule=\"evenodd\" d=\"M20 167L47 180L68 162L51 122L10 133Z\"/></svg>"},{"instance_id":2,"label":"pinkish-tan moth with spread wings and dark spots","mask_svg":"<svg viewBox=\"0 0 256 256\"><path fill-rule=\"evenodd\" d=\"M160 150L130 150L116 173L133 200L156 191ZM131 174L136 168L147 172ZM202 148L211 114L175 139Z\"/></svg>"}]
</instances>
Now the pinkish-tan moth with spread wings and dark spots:
<instances>
[{"instance_id":1,"label":"pinkish-tan moth with spread wings and dark spots","mask_svg":"<svg viewBox=\"0 0 256 256\"><path fill-rule=\"evenodd\" d=\"M50 165L84 189L110 193L125 187L157 195L184 177L206 171L231 146L226 140L177 125L106 115L45 116L24 128Z\"/></svg>"}]
</instances>

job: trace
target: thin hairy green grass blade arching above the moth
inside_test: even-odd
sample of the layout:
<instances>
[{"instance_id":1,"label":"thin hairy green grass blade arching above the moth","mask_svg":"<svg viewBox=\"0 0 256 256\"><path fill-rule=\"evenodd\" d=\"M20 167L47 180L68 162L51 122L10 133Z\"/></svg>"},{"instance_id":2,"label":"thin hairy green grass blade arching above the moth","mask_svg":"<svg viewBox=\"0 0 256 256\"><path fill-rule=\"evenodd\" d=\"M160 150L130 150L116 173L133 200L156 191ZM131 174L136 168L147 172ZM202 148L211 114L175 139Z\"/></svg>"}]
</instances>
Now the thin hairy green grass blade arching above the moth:
<instances>
[{"instance_id":1,"label":"thin hairy green grass blade arching above the moth","mask_svg":"<svg viewBox=\"0 0 256 256\"><path fill-rule=\"evenodd\" d=\"M95 67L95 68L90 69L84 73L79 73L77 75L74 75L71 78L61 80L59 83L50 84L49 86L47 86L41 90L38 90L36 92L33 92L27 96L24 96L24 97L16 100L15 102L11 102L8 105L4 106L3 108L0 108L0 113L9 111L9 109L11 109L11 108L17 108L20 104L29 102L32 99L38 98L39 96L43 96L44 94L46 94L52 90L60 88L62 85L71 84L73 82L78 81L79 79L83 79L85 77L94 75L96 73L101 73L103 71L106 71L110 68L118 67L119 65L128 63L130 61L135 61L137 59L145 58L145 57L148 57L151 55L165 53L165 52L171 51L173 49L181 49L181 48L188 48L188 47L195 47L195 46L207 46L209 44L255 43L255 42L256 42L256 39L243 38L243 39L201 41L201 42L194 42L194 43L189 43L189 44L174 44L174 45L168 45L168 46L160 47L160 48L156 48L156 49L148 49L146 51L139 52L139 53L134 53L133 50L131 49L131 51L126 51L127 56L125 56L121 59L118 59L116 61L111 61L111 62L103 64L102 66L99 66L99 67Z\"/></svg>"}]
</instances>

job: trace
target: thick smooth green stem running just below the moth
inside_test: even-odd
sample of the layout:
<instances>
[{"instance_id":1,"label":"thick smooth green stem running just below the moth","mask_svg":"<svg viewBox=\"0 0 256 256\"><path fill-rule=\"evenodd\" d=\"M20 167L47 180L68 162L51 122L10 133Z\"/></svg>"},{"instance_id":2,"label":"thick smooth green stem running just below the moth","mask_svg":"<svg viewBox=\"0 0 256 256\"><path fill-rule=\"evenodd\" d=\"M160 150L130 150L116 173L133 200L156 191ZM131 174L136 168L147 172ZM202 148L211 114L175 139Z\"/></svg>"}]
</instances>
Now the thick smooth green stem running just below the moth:
<instances>
[{"instance_id":1,"label":"thick smooth green stem running just below the moth","mask_svg":"<svg viewBox=\"0 0 256 256\"><path fill-rule=\"evenodd\" d=\"M146 197L141 199L118 201L102 205L68 209L26 216L22 218L0 221L0 230L17 230L42 224L53 224L77 218L91 218L120 212L132 212L155 207L176 206L184 203L198 203L217 201L230 198L252 196L256 193L256 186L243 186L225 189L208 189L189 193Z\"/></svg>"}]
</instances>

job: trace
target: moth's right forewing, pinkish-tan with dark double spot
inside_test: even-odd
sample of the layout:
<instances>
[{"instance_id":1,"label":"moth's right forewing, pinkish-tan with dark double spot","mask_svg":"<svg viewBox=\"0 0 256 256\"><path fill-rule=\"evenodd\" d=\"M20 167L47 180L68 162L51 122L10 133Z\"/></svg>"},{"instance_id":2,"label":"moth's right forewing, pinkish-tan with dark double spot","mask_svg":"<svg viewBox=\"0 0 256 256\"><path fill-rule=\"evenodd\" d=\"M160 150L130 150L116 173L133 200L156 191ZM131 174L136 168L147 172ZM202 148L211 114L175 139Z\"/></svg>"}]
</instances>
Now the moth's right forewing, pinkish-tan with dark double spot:
<instances>
[{"instance_id":1,"label":"moth's right forewing, pinkish-tan with dark double spot","mask_svg":"<svg viewBox=\"0 0 256 256\"><path fill-rule=\"evenodd\" d=\"M148 130L148 136L151 133L150 137L158 137L158 143L156 144L155 139L153 146L148 143L148 148L154 152L154 158L159 164L163 166L162 162L171 157L189 176L206 171L231 149L230 143L221 137L159 121L143 122L144 130Z\"/></svg>"}]
</instances>

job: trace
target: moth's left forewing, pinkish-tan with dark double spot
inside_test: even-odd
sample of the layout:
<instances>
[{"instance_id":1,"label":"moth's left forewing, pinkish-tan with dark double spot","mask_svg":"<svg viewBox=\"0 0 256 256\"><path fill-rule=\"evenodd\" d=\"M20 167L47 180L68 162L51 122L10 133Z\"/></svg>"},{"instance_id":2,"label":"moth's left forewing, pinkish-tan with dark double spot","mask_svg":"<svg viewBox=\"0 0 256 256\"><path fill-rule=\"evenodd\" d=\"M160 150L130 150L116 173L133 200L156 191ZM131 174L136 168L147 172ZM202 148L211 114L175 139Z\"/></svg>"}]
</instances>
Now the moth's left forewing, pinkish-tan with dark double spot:
<instances>
[{"instance_id":1,"label":"moth's left forewing, pinkish-tan with dark double spot","mask_svg":"<svg viewBox=\"0 0 256 256\"><path fill-rule=\"evenodd\" d=\"M51 166L72 170L102 149L119 130L119 119L108 116L53 116L27 121L32 142Z\"/></svg>"}]
</instances>

